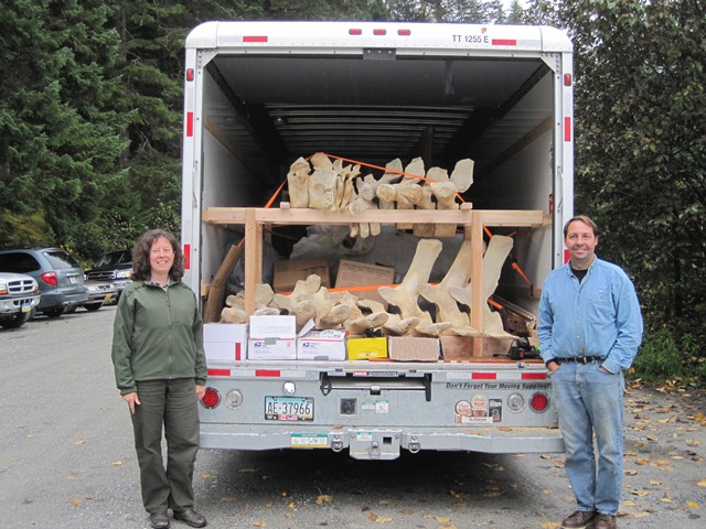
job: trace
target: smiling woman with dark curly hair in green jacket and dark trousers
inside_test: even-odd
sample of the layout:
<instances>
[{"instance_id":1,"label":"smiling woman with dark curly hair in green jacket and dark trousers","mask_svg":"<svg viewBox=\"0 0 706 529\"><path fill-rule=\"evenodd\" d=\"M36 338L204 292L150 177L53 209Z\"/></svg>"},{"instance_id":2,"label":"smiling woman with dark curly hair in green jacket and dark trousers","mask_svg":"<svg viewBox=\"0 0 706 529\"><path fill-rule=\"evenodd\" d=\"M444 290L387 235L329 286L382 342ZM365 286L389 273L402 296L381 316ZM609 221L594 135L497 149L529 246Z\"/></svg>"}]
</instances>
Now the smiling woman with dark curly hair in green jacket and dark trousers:
<instances>
[{"instance_id":1,"label":"smiling woman with dark curly hair in green jacket and dark trousers","mask_svg":"<svg viewBox=\"0 0 706 529\"><path fill-rule=\"evenodd\" d=\"M181 246L161 229L132 249L132 279L120 300L113 334L113 365L128 403L140 465L142 503L154 529L174 519L205 527L193 509L199 450L199 400L206 384L203 322L194 293L181 282ZM162 461L162 427L167 468Z\"/></svg>"}]
</instances>

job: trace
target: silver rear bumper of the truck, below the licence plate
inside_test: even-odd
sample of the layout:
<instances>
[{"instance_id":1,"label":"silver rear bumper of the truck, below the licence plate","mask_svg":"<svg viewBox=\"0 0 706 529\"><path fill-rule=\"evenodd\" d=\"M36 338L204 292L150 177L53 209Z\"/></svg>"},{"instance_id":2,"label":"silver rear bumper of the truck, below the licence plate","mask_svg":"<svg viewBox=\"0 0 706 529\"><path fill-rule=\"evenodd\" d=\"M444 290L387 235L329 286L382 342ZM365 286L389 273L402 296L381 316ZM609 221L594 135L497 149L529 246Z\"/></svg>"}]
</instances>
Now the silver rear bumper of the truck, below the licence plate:
<instances>
[{"instance_id":1,"label":"silver rear bumper of the truck, below the licence plate","mask_svg":"<svg viewBox=\"0 0 706 529\"><path fill-rule=\"evenodd\" d=\"M253 427L201 424L201 447L217 450L329 449L350 451L359 460L394 460L400 450L483 452L490 454L559 453L564 440L554 428L410 429L340 428L253 431Z\"/></svg>"}]
</instances>

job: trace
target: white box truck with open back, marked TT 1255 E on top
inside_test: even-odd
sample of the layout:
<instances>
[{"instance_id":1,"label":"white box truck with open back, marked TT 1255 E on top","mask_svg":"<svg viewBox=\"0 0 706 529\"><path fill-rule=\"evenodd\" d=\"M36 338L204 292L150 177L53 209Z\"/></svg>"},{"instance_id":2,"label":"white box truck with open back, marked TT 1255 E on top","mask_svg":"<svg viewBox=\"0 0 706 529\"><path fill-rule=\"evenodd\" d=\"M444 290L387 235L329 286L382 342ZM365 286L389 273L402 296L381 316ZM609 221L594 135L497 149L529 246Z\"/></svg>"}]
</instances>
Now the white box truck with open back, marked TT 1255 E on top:
<instances>
[{"instance_id":1,"label":"white box truck with open back, marked TT 1255 E on top","mask_svg":"<svg viewBox=\"0 0 706 529\"><path fill-rule=\"evenodd\" d=\"M354 263L349 272L355 263L394 270L387 288L414 296L447 289L437 303L413 300L436 313L426 324L441 346L428 361L414 350L394 357L392 348L378 358L261 358L243 336L233 338L242 348L232 358L208 359L202 446L347 450L363 460L395 458L403 449L561 452L533 327L542 283L564 262L561 227L573 214L567 36L546 26L207 22L190 33L185 54L182 244L184 280L195 292L215 295L240 240L243 257L226 282L244 287L248 315L259 307L256 285L300 258L330 267L329 294L340 291L334 278L345 261ZM427 179L420 187L446 182L460 161L466 173L472 161L473 174L457 188L456 206L427 194L424 206L388 208L377 195L353 214L293 207L299 192L288 174L298 160L307 174L333 170L339 182L385 181L393 191L416 175ZM323 181L314 188L310 177L319 201L341 191ZM353 182L352 197L360 193ZM449 225L450 236L436 236ZM427 235L418 237L418 227ZM511 249L489 279L483 251L492 238L511 240ZM470 248L467 260L461 248ZM462 303L459 289L471 301ZM438 320L445 310L468 319L453 328L472 332L449 337ZM405 320L404 307L385 311ZM506 334L486 332L499 316ZM392 347L389 333L372 331Z\"/></svg>"}]
</instances>

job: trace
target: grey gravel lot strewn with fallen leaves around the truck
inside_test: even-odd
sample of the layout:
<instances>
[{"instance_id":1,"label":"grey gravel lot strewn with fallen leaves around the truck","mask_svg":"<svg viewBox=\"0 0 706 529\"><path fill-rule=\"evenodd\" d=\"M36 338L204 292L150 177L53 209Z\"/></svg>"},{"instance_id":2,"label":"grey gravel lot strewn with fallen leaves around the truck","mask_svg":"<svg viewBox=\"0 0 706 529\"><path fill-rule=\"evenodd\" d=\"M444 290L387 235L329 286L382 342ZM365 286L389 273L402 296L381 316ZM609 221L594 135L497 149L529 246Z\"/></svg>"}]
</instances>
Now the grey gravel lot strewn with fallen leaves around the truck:
<instances>
[{"instance_id":1,"label":"grey gravel lot strewn with fallen leaves around the truck","mask_svg":"<svg viewBox=\"0 0 706 529\"><path fill-rule=\"evenodd\" d=\"M149 527L113 380L114 313L79 310L0 331L3 529ZM704 413L702 391L629 389L619 527L706 526ZM194 486L213 528L555 529L574 510L558 454L362 462L332 452L202 451Z\"/></svg>"}]
</instances>

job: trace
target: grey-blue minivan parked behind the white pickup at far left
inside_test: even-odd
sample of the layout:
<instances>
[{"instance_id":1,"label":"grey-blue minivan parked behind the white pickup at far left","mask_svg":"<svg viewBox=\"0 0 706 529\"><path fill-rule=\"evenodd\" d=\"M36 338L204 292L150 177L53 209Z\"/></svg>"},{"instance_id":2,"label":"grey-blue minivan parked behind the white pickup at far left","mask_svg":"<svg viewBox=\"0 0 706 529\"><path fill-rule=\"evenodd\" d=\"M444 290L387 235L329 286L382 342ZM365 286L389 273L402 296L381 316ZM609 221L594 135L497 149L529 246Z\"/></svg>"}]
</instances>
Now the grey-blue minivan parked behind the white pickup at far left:
<instances>
[{"instance_id":1,"label":"grey-blue minivan parked behind the white pickup at far left","mask_svg":"<svg viewBox=\"0 0 706 529\"><path fill-rule=\"evenodd\" d=\"M61 316L69 306L88 301L84 271L61 248L18 248L0 250L0 272L26 273L40 285L42 298L36 312Z\"/></svg>"}]
</instances>

